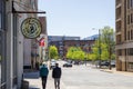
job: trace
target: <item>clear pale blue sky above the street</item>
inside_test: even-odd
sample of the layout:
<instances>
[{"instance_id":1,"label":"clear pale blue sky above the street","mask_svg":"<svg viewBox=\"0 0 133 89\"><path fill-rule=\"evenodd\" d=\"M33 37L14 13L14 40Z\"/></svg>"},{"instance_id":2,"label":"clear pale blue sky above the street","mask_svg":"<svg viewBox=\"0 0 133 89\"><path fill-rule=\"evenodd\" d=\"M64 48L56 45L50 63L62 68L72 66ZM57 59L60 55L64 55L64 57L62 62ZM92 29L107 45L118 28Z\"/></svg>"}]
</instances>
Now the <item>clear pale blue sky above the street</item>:
<instances>
[{"instance_id":1,"label":"clear pale blue sky above the street","mask_svg":"<svg viewBox=\"0 0 133 89\"><path fill-rule=\"evenodd\" d=\"M115 0L39 0L48 36L86 38L110 26L115 30Z\"/></svg>"}]
</instances>

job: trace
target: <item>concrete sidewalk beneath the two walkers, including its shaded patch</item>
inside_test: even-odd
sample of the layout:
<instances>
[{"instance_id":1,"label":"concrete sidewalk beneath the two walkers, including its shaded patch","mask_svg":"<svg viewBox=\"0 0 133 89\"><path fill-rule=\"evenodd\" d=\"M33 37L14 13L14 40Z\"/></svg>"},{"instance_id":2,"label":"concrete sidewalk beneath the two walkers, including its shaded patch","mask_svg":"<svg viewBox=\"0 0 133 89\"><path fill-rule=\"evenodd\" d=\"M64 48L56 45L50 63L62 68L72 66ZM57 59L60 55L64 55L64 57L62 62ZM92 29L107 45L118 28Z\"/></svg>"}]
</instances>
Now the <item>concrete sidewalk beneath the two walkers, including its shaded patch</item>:
<instances>
[{"instance_id":1,"label":"concrete sidewalk beneath the two walkers, including its shaded patch","mask_svg":"<svg viewBox=\"0 0 133 89\"><path fill-rule=\"evenodd\" d=\"M49 70L47 88L45 89L55 89L54 80L51 76L52 70ZM42 89L41 78L39 77L39 71L29 71L23 75L24 80L29 82L29 89ZM60 82L60 89L65 89L63 82Z\"/></svg>"}]
</instances>

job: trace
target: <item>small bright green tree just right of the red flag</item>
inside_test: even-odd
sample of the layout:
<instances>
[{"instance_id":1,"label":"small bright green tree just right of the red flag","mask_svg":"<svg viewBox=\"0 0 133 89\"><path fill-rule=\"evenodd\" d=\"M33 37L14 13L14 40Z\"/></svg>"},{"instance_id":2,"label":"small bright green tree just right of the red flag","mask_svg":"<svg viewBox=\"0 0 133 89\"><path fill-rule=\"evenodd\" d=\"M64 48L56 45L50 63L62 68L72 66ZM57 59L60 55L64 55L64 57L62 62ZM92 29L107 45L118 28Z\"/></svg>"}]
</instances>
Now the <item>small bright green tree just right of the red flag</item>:
<instances>
[{"instance_id":1,"label":"small bright green tree just right of the red flag","mask_svg":"<svg viewBox=\"0 0 133 89\"><path fill-rule=\"evenodd\" d=\"M58 49L55 46L50 46L49 48L49 58L57 59L58 58Z\"/></svg>"}]
</instances>

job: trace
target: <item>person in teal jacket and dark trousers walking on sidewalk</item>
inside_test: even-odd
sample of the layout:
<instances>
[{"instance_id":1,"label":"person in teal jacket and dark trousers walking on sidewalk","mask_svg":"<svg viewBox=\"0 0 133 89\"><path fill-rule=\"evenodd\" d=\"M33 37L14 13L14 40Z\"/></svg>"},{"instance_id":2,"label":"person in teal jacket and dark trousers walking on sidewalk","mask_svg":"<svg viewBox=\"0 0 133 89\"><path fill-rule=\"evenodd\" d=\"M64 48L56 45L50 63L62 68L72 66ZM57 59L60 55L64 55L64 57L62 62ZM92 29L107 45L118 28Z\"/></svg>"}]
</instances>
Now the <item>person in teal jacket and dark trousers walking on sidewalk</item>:
<instances>
[{"instance_id":1,"label":"person in teal jacket and dark trousers walking on sidewalk","mask_svg":"<svg viewBox=\"0 0 133 89\"><path fill-rule=\"evenodd\" d=\"M48 73L49 73L48 67L43 62L41 68L40 68L40 77L41 77L41 80L42 80L42 88L43 89L45 89Z\"/></svg>"}]
</instances>

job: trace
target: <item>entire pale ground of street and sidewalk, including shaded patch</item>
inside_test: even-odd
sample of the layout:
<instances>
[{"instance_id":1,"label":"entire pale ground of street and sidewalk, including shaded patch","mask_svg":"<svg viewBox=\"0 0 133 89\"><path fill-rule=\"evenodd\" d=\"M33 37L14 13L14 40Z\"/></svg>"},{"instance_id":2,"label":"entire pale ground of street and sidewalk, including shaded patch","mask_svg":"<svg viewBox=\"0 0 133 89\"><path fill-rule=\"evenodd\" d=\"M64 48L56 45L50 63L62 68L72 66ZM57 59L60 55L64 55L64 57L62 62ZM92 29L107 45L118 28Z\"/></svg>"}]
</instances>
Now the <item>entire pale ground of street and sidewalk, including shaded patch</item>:
<instances>
[{"instance_id":1,"label":"entire pale ground of street and sidewalk, including shaded patch","mask_svg":"<svg viewBox=\"0 0 133 89\"><path fill-rule=\"evenodd\" d=\"M127 72L109 72L88 66L73 66L63 68L62 61L61 89L133 89L133 75ZM47 89L54 89L54 82L50 70ZM24 73L24 80L29 81L30 89L42 89L39 72Z\"/></svg>"}]
</instances>

